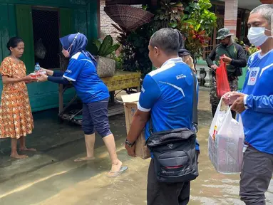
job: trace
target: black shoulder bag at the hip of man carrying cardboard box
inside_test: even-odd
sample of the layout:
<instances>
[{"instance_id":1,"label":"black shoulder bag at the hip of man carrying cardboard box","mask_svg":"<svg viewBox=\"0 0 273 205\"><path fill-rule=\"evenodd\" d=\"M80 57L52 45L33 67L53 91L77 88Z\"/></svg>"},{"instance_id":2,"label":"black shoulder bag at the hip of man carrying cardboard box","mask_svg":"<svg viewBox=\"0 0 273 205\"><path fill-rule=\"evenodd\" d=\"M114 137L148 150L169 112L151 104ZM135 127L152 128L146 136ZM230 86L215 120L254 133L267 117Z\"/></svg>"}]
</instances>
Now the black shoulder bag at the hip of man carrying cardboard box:
<instances>
[{"instance_id":1,"label":"black shoulder bag at the hip of man carrying cardboard box","mask_svg":"<svg viewBox=\"0 0 273 205\"><path fill-rule=\"evenodd\" d=\"M195 140L195 132L187 128L156 132L149 137L146 144L153 152L158 182L190 182L198 177Z\"/></svg>"}]
</instances>

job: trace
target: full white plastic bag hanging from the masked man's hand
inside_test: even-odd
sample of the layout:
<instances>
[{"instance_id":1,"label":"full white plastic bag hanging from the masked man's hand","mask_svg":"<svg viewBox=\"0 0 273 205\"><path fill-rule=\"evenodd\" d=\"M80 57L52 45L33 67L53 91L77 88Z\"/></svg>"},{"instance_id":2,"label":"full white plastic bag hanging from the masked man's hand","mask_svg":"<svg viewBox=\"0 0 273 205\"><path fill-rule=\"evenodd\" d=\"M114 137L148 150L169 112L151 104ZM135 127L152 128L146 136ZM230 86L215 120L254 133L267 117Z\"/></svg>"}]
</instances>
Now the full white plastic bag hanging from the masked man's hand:
<instances>
[{"instance_id":1,"label":"full white plastic bag hanging from the masked man's hand","mask_svg":"<svg viewBox=\"0 0 273 205\"><path fill-rule=\"evenodd\" d=\"M209 157L217 172L235 174L241 172L244 127L242 117L232 118L229 107L221 111L222 99L215 112L208 140Z\"/></svg>"}]
</instances>

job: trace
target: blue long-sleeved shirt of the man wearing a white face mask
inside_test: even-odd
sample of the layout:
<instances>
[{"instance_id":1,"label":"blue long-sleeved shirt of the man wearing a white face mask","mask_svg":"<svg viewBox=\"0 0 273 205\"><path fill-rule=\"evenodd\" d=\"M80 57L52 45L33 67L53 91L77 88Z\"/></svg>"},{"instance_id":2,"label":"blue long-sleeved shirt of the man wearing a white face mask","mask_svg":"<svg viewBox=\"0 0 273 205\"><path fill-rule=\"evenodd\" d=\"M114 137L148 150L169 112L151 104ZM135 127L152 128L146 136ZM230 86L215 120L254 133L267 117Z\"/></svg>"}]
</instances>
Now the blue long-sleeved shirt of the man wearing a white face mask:
<instances>
[{"instance_id":1,"label":"blue long-sleeved shirt of the man wearing a white face mask","mask_svg":"<svg viewBox=\"0 0 273 205\"><path fill-rule=\"evenodd\" d=\"M264 56L254 53L248 62L242 93L247 94L242 113L247 144L273 154L273 50Z\"/></svg>"}]
</instances>

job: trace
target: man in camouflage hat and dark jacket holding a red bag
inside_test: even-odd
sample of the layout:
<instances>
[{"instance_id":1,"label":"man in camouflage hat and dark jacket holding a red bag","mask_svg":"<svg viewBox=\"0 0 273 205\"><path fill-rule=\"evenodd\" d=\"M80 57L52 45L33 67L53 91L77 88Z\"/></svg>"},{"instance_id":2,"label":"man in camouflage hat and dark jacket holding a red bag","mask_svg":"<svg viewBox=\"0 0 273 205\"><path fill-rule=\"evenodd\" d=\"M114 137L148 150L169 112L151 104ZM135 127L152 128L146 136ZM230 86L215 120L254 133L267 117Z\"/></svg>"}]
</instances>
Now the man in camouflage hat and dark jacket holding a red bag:
<instances>
[{"instance_id":1,"label":"man in camouflage hat and dark jacket holding a red bag","mask_svg":"<svg viewBox=\"0 0 273 205\"><path fill-rule=\"evenodd\" d=\"M212 68L212 88L210 92L210 104L212 105L212 116L215 116L217 105L220 99L217 97L216 88L216 69L220 64L220 58L227 65L227 77L230 82L230 89L232 91L238 90L238 76L242 75L242 68L247 65L247 57L244 52L244 48L237 43L233 43L230 30L222 28L217 32L217 40L221 43L213 49L210 55L207 57L207 65ZM221 57L223 56L223 57ZM213 63L215 61L215 63ZM235 117L235 112L232 113Z\"/></svg>"}]
</instances>

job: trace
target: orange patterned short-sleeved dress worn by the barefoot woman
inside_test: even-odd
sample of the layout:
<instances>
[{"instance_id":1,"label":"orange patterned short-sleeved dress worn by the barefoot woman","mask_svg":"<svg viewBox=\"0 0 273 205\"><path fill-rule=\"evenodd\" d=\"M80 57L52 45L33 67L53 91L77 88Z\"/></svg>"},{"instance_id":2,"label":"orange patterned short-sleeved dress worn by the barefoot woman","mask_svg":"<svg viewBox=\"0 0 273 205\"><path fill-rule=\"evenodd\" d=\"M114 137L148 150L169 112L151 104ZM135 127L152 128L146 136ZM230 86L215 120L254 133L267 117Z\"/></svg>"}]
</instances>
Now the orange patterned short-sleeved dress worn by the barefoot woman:
<instances>
[{"instance_id":1,"label":"orange patterned short-sleeved dress worn by the barefoot woman","mask_svg":"<svg viewBox=\"0 0 273 205\"><path fill-rule=\"evenodd\" d=\"M26 66L23 61L13 63L10 57L4 59L0 67L1 75L10 78L24 78ZM0 138L25 137L32 133L34 120L26 83L9 83L3 85L0 107Z\"/></svg>"}]
</instances>

